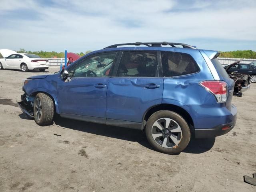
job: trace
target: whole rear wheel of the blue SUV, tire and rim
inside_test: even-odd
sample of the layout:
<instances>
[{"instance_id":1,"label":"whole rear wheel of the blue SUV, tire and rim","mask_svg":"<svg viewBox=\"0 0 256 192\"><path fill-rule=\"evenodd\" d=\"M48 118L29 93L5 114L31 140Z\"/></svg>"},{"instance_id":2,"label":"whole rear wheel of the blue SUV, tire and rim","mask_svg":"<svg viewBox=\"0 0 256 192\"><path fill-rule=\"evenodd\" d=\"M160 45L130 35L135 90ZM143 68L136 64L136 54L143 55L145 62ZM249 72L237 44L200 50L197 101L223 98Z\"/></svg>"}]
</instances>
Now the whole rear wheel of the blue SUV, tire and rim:
<instances>
[{"instance_id":1,"label":"whole rear wheel of the blue SUV, tire and rim","mask_svg":"<svg viewBox=\"0 0 256 192\"><path fill-rule=\"evenodd\" d=\"M178 154L190 141L190 129L182 116L161 110L150 116L146 124L148 142L159 152Z\"/></svg>"}]
</instances>

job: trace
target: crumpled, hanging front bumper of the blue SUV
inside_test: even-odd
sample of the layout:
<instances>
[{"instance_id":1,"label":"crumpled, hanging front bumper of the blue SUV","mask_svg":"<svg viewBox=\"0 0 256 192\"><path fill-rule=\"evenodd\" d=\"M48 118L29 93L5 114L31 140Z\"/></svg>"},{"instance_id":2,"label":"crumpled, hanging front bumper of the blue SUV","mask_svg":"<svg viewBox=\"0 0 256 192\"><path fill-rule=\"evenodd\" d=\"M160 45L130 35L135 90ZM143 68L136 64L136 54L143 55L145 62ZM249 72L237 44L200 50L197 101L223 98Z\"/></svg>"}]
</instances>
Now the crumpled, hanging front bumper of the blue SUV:
<instances>
[{"instance_id":1,"label":"crumpled, hanging front bumper of the blue SUV","mask_svg":"<svg viewBox=\"0 0 256 192\"><path fill-rule=\"evenodd\" d=\"M26 94L21 96L21 101L17 102L18 106L29 117L34 118L34 97L28 97Z\"/></svg>"}]
</instances>

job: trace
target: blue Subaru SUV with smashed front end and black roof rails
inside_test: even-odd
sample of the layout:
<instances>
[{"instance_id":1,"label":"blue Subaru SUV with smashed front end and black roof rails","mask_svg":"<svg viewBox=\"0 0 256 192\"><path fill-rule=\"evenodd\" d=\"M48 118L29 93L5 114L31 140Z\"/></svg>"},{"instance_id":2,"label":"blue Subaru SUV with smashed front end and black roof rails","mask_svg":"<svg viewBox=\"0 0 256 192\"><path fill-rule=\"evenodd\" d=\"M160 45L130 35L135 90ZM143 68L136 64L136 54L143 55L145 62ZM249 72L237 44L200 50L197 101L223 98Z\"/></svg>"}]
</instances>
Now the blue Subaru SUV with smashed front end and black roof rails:
<instances>
[{"instance_id":1,"label":"blue Subaru SUV with smashed front end and black roof rails","mask_svg":"<svg viewBox=\"0 0 256 192\"><path fill-rule=\"evenodd\" d=\"M116 44L57 74L27 78L18 105L41 126L56 113L139 129L156 150L177 154L192 137L219 136L236 124L234 81L217 56L181 43Z\"/></svg>"}]
</instances>

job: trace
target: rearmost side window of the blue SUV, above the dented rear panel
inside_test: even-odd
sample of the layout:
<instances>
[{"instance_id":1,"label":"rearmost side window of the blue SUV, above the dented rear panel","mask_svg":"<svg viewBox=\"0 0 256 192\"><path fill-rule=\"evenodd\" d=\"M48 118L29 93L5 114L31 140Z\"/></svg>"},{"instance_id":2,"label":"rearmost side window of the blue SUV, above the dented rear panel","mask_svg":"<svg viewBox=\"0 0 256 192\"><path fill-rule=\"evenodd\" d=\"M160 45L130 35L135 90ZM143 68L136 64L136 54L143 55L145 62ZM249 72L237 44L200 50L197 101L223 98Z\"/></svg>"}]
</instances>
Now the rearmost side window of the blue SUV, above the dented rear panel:
<instances>
[{"instance_id":1,"label":"rearmost side window of the blue SUV, above the dented rear panel","mask_svg":"<svg viewBox=\"0 0 256 192\"><path fill-rule=\"evenodd\" d=\"M169 51L162 52L162 68L164 77L187 75L200 70L189 54Z\"/></svg>"}]
</instances>

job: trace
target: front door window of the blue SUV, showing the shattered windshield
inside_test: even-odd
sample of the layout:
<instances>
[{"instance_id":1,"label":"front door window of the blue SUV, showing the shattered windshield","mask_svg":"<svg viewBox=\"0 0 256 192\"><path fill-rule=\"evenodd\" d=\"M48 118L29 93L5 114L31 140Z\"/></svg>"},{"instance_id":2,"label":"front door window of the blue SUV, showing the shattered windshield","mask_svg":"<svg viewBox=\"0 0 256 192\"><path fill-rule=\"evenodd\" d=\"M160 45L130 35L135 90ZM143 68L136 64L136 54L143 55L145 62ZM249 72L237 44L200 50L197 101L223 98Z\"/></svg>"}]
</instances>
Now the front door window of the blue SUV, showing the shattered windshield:
<instances>
[{"instance_id":1,"label":"front door window of the blue SUV, showing the shattered windshield","mask_svg":"<svg viewBox=\"0 0 256 192\"><path fill-rule=\"evenodd\" d=\"M108 77L117 52L102 53L90 56L76 64L73 77Z\"/></svg>"}]
</instances>

